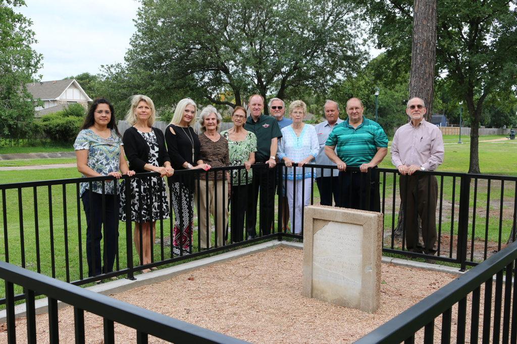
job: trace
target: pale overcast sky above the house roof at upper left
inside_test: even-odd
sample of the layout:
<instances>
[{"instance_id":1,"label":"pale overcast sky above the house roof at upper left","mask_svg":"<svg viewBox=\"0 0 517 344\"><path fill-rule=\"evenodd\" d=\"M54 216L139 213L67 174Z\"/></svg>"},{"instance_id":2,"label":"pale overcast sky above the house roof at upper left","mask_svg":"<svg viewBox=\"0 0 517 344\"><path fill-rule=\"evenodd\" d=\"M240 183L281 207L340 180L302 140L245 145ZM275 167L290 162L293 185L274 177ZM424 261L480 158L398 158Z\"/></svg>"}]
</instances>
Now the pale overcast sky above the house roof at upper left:
<instances>
[{"instance_id":1,"label":"pale overcast sky above the house roof at upper left","mask_svg":"<svg viewBox=\"0 0 517 344\"><path fill-rule=\"evenodd\" d=\"M42 81L84 72L97 74L101 64L124 62L135 31L135 0L25 0L15 9L33 21L43 55Z\"/></svg>"}]
</instances>

